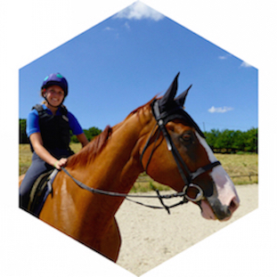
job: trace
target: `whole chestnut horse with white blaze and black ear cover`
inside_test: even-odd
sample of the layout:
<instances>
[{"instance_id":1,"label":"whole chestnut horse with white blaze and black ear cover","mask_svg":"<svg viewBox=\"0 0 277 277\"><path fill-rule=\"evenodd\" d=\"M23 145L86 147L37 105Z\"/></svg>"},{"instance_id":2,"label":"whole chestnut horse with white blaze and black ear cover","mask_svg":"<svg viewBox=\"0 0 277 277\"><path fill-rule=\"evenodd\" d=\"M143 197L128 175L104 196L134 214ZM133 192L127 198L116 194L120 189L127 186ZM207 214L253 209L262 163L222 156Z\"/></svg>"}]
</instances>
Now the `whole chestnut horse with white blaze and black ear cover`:
<instances>
[{"instance_id":1,"label":"whole chestnut horse with white blaze and black ear cover","mask_svg":"<svg viewBox=\"0 0 277 277\"><path fill-rule=\"evenodd\" d=\"M69 158L66 169L90 188L119 193L128 193L145 170L183 192L205 218L227 220L240 200L200 128L182 108L189 89L175 98L178 75L162 98L134 110L117 126L107 126ZM69 175L58 173L39 218L116 262L121 240L115 214L125 197L80 189Z\"/></svg>"}]
</instances>

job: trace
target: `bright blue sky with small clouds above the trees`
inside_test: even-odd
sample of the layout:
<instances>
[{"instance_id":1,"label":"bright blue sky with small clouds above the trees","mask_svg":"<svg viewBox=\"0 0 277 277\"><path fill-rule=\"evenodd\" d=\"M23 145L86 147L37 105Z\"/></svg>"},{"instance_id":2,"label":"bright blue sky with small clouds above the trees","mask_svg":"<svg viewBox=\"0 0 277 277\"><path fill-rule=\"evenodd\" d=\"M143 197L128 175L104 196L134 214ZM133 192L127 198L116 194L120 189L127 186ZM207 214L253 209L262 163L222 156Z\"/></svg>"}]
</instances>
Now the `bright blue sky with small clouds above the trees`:
<instances>
[{"instance_id":1,"label":"bright blue sky with small clouds above the trees","mask_svg":"<svg viewBox=\"0 0 277 277\"><path fill-rule=\"evenodd\" d=\"M45 76L60 72L81 126L114 126L179 71L178 94L192 84L185 109L202 130L257 127L257 69L140 2L21 68L19 116L42 102Z\"/></svg>"}]
</instances>

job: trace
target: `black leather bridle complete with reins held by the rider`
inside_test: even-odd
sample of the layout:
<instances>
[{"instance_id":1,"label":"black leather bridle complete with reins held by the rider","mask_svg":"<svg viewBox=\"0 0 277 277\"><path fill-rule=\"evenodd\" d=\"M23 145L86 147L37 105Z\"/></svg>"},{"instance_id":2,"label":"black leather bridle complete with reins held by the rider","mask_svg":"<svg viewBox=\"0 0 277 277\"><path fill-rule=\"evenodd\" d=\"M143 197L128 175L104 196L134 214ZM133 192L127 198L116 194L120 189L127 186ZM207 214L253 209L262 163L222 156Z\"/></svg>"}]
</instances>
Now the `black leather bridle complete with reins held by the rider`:
<instances>
[{"instance_id":1,"label":"black leather bridle complete with reins held by the rider","mask_svg":"<svg viewBox=\"0 0 277 277\"><path fill-rule=\"evenodd\" d=\"M143 151L140 157L141 160L141 164L143 166L143 154L146 151L146 149L149 147L150 143L151 143L151 138L154 134L154 130L157 128L158 126L158 134L156 136L152 151L151 151L151 155L146 163L146 167L143 168L145 172L147 172L147 167L151 161L151 157L153 155L153 152L155 151L155 146L156 143L158 141L159 138L159 134L160 132L162 132L164 138L166 139L167 142L167 149L168 151L172 152L172 155L175 159L175 163L178 167L178 171L179 174L181 175L182 179L183 179L183 191L182 192L177 192L177 193L173 193L173 194L167 194L167 195L160 195L159 194L159 190L156 190L157 195L132 195L132 194L126 194L126 193L118 193L118 192L114 192L114 191L102 191L99 189L94 189L91 188L89 186L87 186L85 183L81 183L80 181L78 181L77 179L75 179L72 175L69 174L69 171L65 168L65 167L61 167L61 170L69 175L69 177L75 182L77 183L77 185L82 188L85 189L86 191L91 191L93 193L97 193L97 194L102 194L102 195L108 195L108 196L113 196L113 197L124 197L126 200L132 201L136 204L140 204L143 205L144 207L148 207L148 208L165 208L168 212L168 214L170 214L170 210L169 208L174 208L176 206L179 205L183 205L184 203L187 203L189 200L192 202L196 202L196 203L200 203L200 200L202 200L205 197L205 192L200 188L200 186L196 183L192 183L192 181L198 177L199 175L202 175L203 173L211 170L213 167L219 166L221 163L217 160L213 163L208 164L207 166L204 167L200 167L198 168L195 172L191 173L190 169L186 166L185 162L183 161L179 151L177 151L176 147L175 147L175 143L173 143L170 134L168 134L167 132L167 128L166 128L166 124L167 122L171 121L173 118L180 118L180 115L176 115L176 111L178 111L178 113L180 113L180 110L182 110L181 115L184 118L187 118L191 121L191 124L193 126L195 126L195 128L198 130L198 132L200 133L200 135L204 136L204 134L202 134L202 132L200 131L199 126L197 126L197 124L193 121L193 119L181 108L181 107L177 107L173 110L169 110L167 112L163 112L160 113L159 112L159 102L157 100L154 100L151 103L151 109L152 109L152 113L154 115L154 118L157 121L157 124L153 127L152 132L147 140L147 142L145 143L144 147L143 147ZM183 170L184 169L184 170ZM197 190L197 194L195 198L191 198L187 192L189 189L194 188L195 190ZM176 203L175 205L172 206L167 206L164 203L164 199L171 199L171 198L176 198L176 197L183 197L183 200L181 200L180 202ZM163 207L157 207L157 206L151 206L151 205L146 205L143 204L141 202L135 201L135 200L131 200L131 198L155 198L155 199L159 199L161 205Z\"/></svg>"}]
</instances>

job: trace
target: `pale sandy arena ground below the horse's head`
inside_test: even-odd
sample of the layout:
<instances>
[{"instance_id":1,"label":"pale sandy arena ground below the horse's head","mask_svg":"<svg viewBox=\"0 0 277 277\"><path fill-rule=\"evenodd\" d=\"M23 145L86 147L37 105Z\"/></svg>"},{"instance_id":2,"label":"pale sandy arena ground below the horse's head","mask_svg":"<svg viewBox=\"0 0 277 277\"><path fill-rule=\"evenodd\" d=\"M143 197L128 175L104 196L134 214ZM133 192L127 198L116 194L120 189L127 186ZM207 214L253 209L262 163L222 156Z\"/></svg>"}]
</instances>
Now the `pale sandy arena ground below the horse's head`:
<instances>
[{"instance_id":1,"label":"pale sandy arena ground below the horse's head","mask_svg":"<svg viewBox=\"0 0 277 277\"><path fill-rule=\"evenodd\" d=\"M257 184L239 185L236 189L240 208L224 223L204 219L200 208L191 202L172 208L169 216L164 209L144 208L124 201L116 215L122 238L117 264L140 276L257 208ZM163 192L166 193L170 191ZM139 201L159 206L159 200ZM167 200L168 205L171 202Z\"/></svg>"}]
</instances>

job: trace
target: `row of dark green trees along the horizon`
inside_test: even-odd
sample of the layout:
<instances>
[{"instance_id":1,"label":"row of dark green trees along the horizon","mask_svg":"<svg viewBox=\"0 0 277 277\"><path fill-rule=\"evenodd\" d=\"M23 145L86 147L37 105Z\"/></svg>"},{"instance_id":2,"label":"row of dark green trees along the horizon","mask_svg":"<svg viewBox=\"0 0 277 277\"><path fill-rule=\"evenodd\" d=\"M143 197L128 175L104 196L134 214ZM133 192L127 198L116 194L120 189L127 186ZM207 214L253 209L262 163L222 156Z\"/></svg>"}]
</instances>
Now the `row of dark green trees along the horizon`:
<instances>
[{"instance_id":1,"label":"row of dark green trees along the horizon","mask_svg":"<svg viewBox=\"0 0 277 277\"><path fill-rule=\"evenodd\" d=\"M257 128L251 128L246 132L212 129L210 132L204 132L204 134L208 145L217 153L236 153L238 151L257 153L257 132ZM84 133L87 139L91 141L94 136L101 134L102 130L93 126L89 129L84 129ZM29 143L26 134L26 119L20 119L20 143ZM77 143L75 135L71 136L71 143Z\"/></svg>"}]
</instances>

